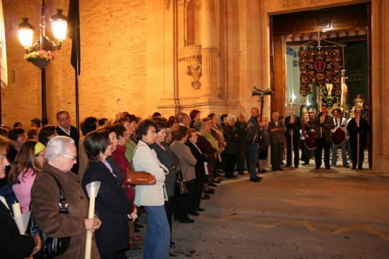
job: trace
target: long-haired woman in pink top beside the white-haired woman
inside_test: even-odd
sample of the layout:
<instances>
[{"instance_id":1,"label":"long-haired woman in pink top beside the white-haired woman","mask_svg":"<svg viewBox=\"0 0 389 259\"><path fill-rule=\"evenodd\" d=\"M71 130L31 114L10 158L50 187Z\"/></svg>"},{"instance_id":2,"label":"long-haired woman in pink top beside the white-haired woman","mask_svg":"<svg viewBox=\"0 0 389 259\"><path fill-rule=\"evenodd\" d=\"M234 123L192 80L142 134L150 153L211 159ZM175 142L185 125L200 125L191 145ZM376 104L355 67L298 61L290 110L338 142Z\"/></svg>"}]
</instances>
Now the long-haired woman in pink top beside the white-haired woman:
<instances>
[{"instance_id":1,"label":"long-haired woman in pink top beside the white-haired woman","mask_svg":"<svg viewBox=\"0 0 389 259\"><path fill-rule=\"evenodd\" d=\"M31 188L37 173L45 162L45 145L34 140L26 141L13 162L8 174L9 183L21 204L22 213L30 211Z\"/></svg>"}]
</instances>

